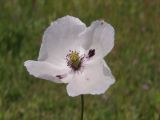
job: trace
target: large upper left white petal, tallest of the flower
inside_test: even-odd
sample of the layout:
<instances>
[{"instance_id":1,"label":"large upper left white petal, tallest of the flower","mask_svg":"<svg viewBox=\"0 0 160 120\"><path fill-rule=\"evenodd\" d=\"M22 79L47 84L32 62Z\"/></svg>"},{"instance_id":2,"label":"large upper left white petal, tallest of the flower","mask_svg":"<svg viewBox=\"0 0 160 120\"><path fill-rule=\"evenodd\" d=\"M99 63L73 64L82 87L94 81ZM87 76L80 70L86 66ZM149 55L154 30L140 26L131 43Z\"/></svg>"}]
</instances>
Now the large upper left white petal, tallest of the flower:
<instances>
[{"instance_id":1,"label":"large upper left white petal, tallest of the flower","mask_svg":"<svg viewBox=\"0 0 160 120\"><path fill-rule=\"evenodd\" d=\"M64 62L70 49L78 41L78 35L86 28L78 18L65 16L54 21L44 32L39 61Z\"/></svg>"}]
</instances>

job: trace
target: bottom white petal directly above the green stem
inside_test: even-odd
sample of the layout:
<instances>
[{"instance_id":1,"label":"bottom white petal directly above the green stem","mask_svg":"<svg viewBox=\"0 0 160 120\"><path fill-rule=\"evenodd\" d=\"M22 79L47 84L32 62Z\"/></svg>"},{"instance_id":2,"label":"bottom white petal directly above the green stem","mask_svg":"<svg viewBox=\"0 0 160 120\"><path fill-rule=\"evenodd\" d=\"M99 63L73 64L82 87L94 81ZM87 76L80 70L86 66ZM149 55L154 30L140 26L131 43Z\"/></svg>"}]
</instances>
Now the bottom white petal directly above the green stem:
<instances>
[{"instance_id":1,"label":"bottom white petal directly above the green stem","mask_svg":"<svg viewBox=\"0 0 160 120\"><path fill-rule=\"evenodd\" d=\"M81 94L102 94L114 82L111 71L103 61L94 61L84 67L80 73L76 73L67 85L69 96Z\"/></svg>"}]
</instances>

